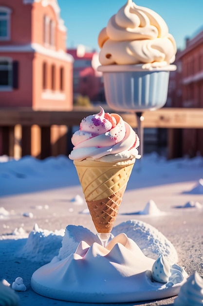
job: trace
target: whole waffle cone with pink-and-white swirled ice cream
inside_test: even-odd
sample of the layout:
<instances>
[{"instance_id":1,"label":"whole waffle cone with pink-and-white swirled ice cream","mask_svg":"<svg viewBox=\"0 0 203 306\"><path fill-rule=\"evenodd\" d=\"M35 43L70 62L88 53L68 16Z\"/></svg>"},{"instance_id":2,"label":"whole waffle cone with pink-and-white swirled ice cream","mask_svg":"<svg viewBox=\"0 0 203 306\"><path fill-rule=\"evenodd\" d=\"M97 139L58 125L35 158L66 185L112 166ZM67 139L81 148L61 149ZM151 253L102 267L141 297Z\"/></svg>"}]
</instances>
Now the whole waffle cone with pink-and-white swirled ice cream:
<instances>
[{"instance_id":1,"label":"whole waffle cone with pink-and-white swirled ice cream","mask_svg":"<svg viewBox=\"0 0 203 306\"><path fill-rule=\"evenodd\" d=\"M116 113L84 118L72 137L69 158L83 189L99 238L109 237L136 158L139 138ZM103 235L102 235L103 234Z\"/></svg>"}]
</instances>

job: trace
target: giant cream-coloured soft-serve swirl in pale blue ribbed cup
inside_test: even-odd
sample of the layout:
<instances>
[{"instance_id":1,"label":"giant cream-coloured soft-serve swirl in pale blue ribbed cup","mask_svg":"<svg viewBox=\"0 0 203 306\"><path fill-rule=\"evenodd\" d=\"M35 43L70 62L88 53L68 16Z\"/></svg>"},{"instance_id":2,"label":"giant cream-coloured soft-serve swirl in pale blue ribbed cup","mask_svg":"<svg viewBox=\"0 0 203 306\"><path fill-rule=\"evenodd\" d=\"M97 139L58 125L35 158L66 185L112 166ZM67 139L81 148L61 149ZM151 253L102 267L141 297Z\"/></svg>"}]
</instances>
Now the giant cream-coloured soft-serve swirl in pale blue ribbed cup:
<instances>
[{"instance_id":1,"label":"giant cream-coloured soft-serve swirl in pale blue ribbed cup","mask_svg":"<svg viewBox=\"0 0 203 306\"><path fill-rule=\"evenodd\" d=\"M144 111L165 105L177 49L160 15L128 0L101 30L98 44L98 70L112 109Z\"/></svg>"}]
</instances>

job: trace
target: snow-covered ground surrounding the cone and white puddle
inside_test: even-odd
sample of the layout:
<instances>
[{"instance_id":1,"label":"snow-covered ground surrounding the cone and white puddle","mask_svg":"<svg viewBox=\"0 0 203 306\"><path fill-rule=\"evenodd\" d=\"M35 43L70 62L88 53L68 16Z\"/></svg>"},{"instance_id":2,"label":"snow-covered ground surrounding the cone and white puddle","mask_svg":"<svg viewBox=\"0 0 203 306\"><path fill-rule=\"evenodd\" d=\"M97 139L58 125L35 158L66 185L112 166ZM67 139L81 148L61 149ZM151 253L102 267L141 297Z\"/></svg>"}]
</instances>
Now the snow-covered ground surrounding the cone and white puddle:
<instances>
[{"instance_id":1,"label":"snow-covered ground surrounding the cone and white puddle","mask_svg":"<svg viewBox=\"0 0 203 306\"><path fill-rule=\"evenodd\" d=\"M150 237L156 243L152 226L172 242L188 274L203 276L203 157L167 161L151 153L137 160L115 222L117 231L129 220L148 224L144 247L150 249ZM77 236L87 229L96 233L73 162L66 156L42 161L1 156L0 278L15 283L14 288L24 288L23 279L21 306L74 305L41 297L30 286L32 273L57 256L67 225L74 226L72 231L79 228ZM133 228L128 235L132 233ZM76 242L69 241L68 252L74 252Z\"/></svg>"}]
</instances>

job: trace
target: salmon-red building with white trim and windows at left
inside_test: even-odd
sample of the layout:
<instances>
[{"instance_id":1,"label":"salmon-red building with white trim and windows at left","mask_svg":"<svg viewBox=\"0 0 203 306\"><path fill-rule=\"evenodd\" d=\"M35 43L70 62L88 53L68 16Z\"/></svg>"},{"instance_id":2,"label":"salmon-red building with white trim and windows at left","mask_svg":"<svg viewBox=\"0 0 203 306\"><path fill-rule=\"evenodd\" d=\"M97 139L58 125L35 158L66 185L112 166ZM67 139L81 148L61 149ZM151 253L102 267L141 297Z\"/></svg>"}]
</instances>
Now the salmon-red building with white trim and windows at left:
<instances>
[{"instance_id":1,"label":"salmon-red building with white trim and windows at left","mask_svg":"<svg viewBox=\"0 0 203 306\"><path fill-rule=\"evenodd\" d=\"M73 57L57 0L0 0L0 107L73 106Z\"/></svg>"}]
</instances>

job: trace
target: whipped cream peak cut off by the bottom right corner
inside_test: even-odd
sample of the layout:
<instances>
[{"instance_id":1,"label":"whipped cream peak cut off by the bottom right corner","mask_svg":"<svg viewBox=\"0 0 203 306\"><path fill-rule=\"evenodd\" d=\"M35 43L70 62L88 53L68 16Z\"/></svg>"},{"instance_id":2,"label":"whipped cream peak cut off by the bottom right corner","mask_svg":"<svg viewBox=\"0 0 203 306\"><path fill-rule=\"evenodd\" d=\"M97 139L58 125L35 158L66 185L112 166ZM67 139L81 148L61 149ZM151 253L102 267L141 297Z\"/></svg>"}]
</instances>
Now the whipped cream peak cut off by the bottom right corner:
<instances>
[{"instance_id":1,"label":"whipped cream peak cut off by the bottom right corner","mask_svg":"<svg viewBox=\"0 0 203 306\"><path fill-rule=\"evenodd\" d=\"M174 306L203 306L203 279L197 272L182 285Z\"/></svg>"}]
</instances>

